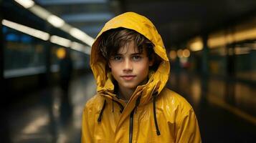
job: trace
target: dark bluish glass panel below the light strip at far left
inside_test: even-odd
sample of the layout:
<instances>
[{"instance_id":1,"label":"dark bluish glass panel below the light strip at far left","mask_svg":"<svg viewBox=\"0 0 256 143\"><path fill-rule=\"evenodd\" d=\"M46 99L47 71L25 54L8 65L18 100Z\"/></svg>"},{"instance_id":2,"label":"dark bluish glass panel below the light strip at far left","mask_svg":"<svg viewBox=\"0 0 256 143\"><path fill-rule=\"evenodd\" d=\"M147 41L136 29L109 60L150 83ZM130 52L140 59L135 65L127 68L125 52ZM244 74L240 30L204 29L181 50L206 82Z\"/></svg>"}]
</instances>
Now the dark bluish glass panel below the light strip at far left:
<instances>
[{"instance_id":1,"label":"dark bluish glass panel below the light strip at far left","mask_svg":"<svg viewBox=\"0 0 256 143\"><path fill-rule=\"evenodd\" d=\"M45 72L44 41L3 26L4 77Z\"/></svg>"}]
</instances>

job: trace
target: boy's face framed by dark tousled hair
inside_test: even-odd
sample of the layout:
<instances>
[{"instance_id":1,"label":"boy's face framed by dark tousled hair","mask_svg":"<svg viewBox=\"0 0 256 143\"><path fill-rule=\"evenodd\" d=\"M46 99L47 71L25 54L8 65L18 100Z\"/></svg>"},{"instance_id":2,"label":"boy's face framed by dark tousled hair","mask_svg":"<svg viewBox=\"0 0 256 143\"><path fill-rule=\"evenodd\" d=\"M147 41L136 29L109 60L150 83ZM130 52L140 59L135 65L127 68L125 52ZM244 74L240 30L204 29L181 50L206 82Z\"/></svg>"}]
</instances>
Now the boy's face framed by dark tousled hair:
<instances>
[{"instance_id":1,"label":"boy's face framed by dark tousled hair","mask_svg":"<svg viewBox=\"0 0 256 143\"><path fill-rule=\"evenodd\" d=\"M118 86L133 90L148 77L148 69L152 65L153 60L149 61L146 48L139 53L133 41L120 47L117 54L111 56L108 64Z\"/></svg>"}]
</instances>

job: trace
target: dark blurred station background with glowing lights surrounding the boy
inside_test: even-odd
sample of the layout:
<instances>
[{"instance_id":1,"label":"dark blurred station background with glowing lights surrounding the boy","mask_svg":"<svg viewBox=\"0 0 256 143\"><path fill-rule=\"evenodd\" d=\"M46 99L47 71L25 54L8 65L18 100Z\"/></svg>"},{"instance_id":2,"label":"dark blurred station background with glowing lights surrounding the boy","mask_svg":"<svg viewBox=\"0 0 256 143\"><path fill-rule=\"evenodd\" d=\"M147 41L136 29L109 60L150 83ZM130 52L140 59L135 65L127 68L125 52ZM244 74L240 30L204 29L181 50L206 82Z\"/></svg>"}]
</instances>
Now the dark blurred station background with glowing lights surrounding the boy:
<instances>
[{"instance_id":1,"label":"dark blurred station background with glowing lights surrounding the boy","mask_svg":"<svg viewBox=\"0 0 256 143\"><path fill-rule=\"evenodd\" d=\"M0 142L80 142L90 46L125 11L161 34L202 142L255 142L255 0L0 0Z\"/></svg>"}]
</instances>

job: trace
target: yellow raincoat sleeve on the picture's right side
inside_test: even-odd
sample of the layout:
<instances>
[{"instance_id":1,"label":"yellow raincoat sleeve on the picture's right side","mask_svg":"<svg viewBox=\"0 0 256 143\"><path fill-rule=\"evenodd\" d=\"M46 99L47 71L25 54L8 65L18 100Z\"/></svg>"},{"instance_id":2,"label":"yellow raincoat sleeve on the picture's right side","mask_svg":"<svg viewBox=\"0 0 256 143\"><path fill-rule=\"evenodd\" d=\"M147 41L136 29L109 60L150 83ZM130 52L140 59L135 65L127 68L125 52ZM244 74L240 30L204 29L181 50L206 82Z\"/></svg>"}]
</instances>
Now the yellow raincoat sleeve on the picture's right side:
<instances>
[{"instance_id":1,"label":"yellow raincoat sleeve on the picture's right side","mask_svg":"<svg viewBox=\"0 0 256 143\"><path fill-rule=\"evenodd\" d=\"M202 142L199 132L199 125L193 109L189 109L189 112L184 114L176 125L178 128L176 129L176 142Z\"/></svg>"}]
</instances>

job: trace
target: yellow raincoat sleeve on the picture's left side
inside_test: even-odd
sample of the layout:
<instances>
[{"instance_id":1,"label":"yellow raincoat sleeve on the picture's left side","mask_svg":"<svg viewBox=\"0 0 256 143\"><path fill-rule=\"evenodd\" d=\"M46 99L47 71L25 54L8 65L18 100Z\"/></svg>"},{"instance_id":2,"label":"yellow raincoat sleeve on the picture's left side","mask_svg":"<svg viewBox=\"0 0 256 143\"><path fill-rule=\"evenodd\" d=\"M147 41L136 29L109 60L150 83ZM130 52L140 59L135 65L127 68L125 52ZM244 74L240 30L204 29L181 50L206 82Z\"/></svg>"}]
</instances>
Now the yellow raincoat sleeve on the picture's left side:
<instances>
[{"instance_id":1,"label":"yellow raincoat sleeve on the picture's left side","mask_svg":"<svg viewBox=\"0 0 256 143\"><path fill-rule=\"evenodd\" d=\"M85 105L85 109L82 112L82 143L93 142L93 124L92 109Z\"/></svg>"}]
</instances>

